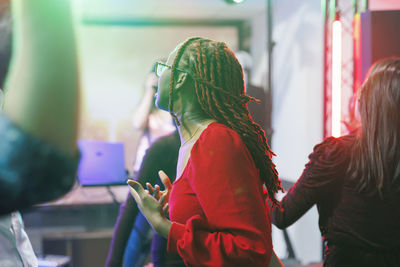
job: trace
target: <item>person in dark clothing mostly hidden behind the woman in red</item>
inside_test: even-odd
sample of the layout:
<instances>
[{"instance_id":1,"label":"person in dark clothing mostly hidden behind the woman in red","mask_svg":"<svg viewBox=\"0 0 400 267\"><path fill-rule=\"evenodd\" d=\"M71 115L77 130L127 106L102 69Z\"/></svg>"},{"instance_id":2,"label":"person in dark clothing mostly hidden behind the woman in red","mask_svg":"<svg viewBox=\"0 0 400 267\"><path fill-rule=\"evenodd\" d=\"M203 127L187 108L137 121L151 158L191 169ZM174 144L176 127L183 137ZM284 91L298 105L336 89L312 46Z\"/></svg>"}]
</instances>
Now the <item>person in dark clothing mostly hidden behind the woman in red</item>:
<instances>
[{"instance_id":1,"label":"person in dark clothing mostly hidden behind the woman in red","mask_svg":"<svg viewBox=\"0 0 400 267\"><path fill-rule=\"evenodd\" d=\"M164 170L169 177L175 177L179 147L177 131L156 140L143 158L137 181L143 185L146 182L161 184L159 170ZM122 266L122 263L123 266L142 266L150 248L154 266L162 266L167 257L166 246L165 238L157 234L153 237L153 230L139 212L132 195L128 194L115 223L106 266Z\"/></svg>"}]
</instances>

